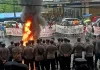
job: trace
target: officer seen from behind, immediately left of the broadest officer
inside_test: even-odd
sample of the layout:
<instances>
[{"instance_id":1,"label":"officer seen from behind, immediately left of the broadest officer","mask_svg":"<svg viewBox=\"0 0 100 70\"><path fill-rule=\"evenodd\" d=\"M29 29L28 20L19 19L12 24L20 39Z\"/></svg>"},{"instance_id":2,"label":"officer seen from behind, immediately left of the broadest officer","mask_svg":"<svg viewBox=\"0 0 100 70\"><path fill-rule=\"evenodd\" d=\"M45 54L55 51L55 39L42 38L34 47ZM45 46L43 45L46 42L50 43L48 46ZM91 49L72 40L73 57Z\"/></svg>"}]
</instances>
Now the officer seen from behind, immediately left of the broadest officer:
<instances>
[{"instance_id":1,"label":"officer seen from behind, immediately left of the broadest officer","mask_svg":"<svg viewBox=\"0 0 100 70\"><path fill-rule=\"evenodd\" d=\"M54 42L51 40L50 44L47 46L46 54L47 54L47 70L51 69L55 70L55 52L57 51L57 47L54 45Z\"/></svg>"}]
</instances>

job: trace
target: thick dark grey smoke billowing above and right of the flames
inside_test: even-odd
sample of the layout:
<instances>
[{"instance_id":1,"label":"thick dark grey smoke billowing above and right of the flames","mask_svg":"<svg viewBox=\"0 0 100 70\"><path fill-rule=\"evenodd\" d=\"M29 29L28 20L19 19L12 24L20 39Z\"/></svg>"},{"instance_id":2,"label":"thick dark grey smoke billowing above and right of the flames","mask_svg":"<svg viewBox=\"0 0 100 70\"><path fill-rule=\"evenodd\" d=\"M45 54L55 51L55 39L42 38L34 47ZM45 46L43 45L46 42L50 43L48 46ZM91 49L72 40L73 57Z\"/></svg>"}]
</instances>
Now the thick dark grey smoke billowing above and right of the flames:
<instances>
[{"instance_id":1,"label":"thick dark grey smoke billowing above and right of the flames","mask_svg":"<svg viewBox=\"0 0 100 70\"><path fill-rule=\"evenodd\" d=\"M45 26L45 19L41 16L41 5L42 0L19 0L21 6L23 6L21 20L26 22L27 19L31 16L33 18L33 28L32 33L33 37L37 39L40 36L41 26Z\"/></svg>"}]
</instances>

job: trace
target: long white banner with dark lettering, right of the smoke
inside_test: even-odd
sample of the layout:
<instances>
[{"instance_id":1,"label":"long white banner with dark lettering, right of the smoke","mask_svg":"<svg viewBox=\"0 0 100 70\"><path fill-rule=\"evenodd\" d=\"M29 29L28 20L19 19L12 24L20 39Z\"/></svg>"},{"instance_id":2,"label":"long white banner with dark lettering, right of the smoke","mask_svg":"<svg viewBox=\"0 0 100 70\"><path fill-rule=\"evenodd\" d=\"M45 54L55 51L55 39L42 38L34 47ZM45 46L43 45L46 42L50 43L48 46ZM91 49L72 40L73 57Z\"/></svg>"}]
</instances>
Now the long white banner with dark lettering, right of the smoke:
<instances>
[{"instance_id":1,"label":"long white banner with dark lettering, right of the smoke","mask_svg":"<svg viewBox=\"0 0 100 70\"><path fill-rule=\"evenodd\" d=\"M62 34L80 34L83 33L83 25L76 25L76 26L56 25L56 32Z\"/></svg>"}]
</instances>

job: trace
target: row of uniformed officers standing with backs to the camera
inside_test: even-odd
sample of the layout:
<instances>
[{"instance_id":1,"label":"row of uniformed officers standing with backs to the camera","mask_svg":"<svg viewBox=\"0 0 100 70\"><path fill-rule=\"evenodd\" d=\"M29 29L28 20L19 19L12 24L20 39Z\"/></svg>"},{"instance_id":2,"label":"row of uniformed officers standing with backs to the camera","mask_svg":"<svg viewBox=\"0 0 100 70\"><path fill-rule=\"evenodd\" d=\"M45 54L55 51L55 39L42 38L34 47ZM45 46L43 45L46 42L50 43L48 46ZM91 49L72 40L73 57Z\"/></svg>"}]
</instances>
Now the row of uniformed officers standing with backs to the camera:
<instances>
[{"instance_id":1,"label":"row of uniformed officers standing with backs to the camera","mask_svg":"<svg viewBox=\"0 0 100 70\"><path fill-rule=\"evenodd\" d=\"M86 39L85 43L82 43L79 37L74 45L67 38L58 38L58 42L54 38L38 39L36 43L32 40L28 41L26 46L23 46L23 41L11 42L7 48L5 44L0 43L0 70L4 70L4 68L5 70L12 70L11 68L8 69L9 64L11 64L9 62L22 64L22 61L24 61L23 67L26 70L56 70L58 67L61 70L71 70L71 55L74 54L74 68L74 60L82 58L82 52L85 52L87 66L93 70L97 67L97 60L100 58L99 45L100 35L93 36L93 42Z\"/></svg>"}]
</instances>

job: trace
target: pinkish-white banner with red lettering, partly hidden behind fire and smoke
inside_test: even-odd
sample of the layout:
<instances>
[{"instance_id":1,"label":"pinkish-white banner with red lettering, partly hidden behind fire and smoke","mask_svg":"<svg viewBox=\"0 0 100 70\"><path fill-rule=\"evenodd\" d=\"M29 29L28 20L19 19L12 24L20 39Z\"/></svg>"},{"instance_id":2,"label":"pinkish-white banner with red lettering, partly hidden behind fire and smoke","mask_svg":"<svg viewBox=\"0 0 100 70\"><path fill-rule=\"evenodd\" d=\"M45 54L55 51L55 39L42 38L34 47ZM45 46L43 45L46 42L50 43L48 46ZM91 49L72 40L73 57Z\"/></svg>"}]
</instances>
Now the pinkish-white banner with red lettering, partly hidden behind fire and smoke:
<instances>
[{"instance_id":1,"label":"pinkish-white banner with red lettering, partly hidden behind fire and smoke","mask_svg":"<svg viewBox=\"0 0 100 70\"><path fill-rule=\"evenodd\" d=\"M42 29L40 33L40 37L50 37L52 34L55 33L55 30L53 28L49 28L46 26L44 29ZM22 36L22 29L21 28L6 28L6 35L12 35L12 36Z\"/></svg>"}]
</instances>

